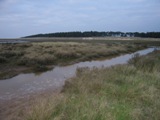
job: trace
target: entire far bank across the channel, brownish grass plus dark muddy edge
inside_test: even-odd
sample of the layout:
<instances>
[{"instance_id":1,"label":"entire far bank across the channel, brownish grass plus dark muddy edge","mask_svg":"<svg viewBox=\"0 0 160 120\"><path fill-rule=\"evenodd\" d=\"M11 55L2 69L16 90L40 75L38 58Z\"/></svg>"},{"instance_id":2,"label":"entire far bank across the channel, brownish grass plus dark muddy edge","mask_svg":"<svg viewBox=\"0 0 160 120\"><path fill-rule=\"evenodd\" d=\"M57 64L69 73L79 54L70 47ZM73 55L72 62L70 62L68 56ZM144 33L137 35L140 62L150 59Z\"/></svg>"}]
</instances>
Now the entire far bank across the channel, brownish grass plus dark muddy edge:
<instances>
[{"instance_id":1,"label":"entire far bank across the channel, brownish grass plus dark muddy edge","mask_svg":"<svg viewBox=\"0 0 160 120\"><path fill-rule=\"evenodd\" d=\"M109 58L143 49L134 43L36 42L0 44L0 79L21 72L43 72L52 65Z\"/></svg>"}]
</instances>

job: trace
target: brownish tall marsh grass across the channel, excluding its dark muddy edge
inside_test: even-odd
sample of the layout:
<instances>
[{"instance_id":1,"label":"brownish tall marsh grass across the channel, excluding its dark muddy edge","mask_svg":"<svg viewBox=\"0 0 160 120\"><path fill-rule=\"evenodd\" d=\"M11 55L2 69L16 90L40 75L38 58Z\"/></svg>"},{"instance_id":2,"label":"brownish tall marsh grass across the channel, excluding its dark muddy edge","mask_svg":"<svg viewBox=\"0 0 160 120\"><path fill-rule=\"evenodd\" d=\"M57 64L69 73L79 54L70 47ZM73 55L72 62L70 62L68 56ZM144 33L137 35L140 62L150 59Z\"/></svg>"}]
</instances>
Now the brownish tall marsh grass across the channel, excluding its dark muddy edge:
<instances>
[{"instance_id":1,"label":"brownish tall marsh grass across the channel, excluding its dark muddy edge","mask_svg":"<svg viewBox=\"0 0 160 120\"><path fill-rule=\"evenodd\" d=\"M12 65L33 66L35 63L40 65L67 64L118 55L137 49L139 46L134 44L43 42L0 45L0 57L2 62L7 59Z\"/></svg>"}]
</instances>

